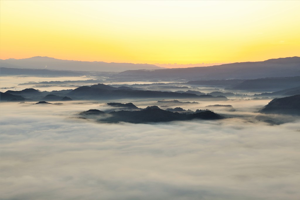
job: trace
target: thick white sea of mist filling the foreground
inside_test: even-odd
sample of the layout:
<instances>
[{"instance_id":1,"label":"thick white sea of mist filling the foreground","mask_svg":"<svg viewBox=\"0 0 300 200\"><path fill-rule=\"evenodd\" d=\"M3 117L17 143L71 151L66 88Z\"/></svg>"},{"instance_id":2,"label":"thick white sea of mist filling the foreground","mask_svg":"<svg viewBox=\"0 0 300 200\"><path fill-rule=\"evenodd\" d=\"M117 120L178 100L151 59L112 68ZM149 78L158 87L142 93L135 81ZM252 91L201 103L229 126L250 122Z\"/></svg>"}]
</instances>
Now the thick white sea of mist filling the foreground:
<instances>
[{"instance_id":1,"label":"thick white sea of mist filling the foreground","mask_svg":"<svg viewBox=\"0 0 300 200\"><path fill-rule=\"evenodd\" d=\"M69 117L108 102L76 103L0 103L1 199L299 199L299 119L104 124Z\"/></svg>"}]
</instances>

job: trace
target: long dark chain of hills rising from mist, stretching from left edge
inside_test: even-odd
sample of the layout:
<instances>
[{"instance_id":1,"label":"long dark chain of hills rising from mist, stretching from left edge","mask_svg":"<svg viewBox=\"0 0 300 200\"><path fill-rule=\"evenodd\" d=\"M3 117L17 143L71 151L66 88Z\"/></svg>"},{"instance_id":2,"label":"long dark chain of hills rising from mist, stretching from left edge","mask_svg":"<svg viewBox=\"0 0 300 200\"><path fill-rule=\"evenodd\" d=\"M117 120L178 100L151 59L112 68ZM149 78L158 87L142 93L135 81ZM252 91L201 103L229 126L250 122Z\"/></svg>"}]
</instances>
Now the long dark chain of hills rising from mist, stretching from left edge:
<instances>
[{"instance_id":1,"label":"long dark chain of hills rising from mist, stretching from left edge","mask_svg":"<svg viewBox=\"0 0 300 200\"><path fill-rule=\"evenodd\" d=\"M13 96L12 96L13 95ZM112 87L104 84L81 86L74 90L61 91L38 91L27 88L21 91L7 90L1 92L1 101L16 100L97 100L97 99L120 99L120 98L199 98L202 100L227 100L224 96L196 95L190 93L177 93L168 91L134 90L124 87ZM64 99L63 99L64 98Z\"/></svg>"}]
</instances>

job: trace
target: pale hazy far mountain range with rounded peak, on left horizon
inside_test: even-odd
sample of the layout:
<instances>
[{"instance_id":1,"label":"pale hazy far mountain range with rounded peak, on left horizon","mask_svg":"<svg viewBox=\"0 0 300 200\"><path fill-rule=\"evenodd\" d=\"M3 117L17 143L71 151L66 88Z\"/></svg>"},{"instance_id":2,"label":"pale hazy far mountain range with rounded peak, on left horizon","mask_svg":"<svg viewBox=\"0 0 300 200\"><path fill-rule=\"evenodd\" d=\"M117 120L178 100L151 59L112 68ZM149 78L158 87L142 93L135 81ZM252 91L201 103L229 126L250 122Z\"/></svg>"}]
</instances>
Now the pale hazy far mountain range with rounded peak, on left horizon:
<instances>
[{"instance_id":1,"label":"pale hazy far mountain range with rounded peak, on left horizon","mask_svg":"<svg viewBox=\"0 0 300 200\"><path fill-rule=\"evenodd\" d=\"M32 58L6 60L0 59L1 67L7 68L29 68L29 69L50 69L50 70L73 70L73 71L112 71L122 72L126 70L153 70L163 69L153 64L133 64L133 63L107 63L107 62L88 62L61 60L56 58L35 56Z\"/></svg>"}]
</instances>

